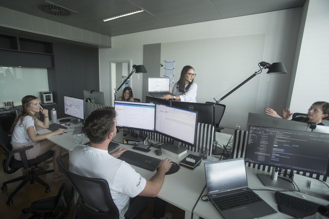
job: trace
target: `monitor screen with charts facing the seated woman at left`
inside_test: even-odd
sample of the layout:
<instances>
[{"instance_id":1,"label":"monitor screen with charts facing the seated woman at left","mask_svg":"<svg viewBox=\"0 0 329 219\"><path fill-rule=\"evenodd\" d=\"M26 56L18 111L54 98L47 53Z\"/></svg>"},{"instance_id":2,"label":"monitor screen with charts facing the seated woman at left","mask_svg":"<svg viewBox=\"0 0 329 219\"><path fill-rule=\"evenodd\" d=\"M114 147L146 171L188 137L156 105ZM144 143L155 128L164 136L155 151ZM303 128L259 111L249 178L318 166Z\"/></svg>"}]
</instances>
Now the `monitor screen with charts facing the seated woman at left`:
<instances>
[{"instance_id":1,"label":"monitor screen with charts facing the seated woman at left","mask_svg":"<svg viewBox=\"0 0 329 219\"><path fill-rule=\"evenodd\" d=\"M84 119L83 100L64 96L64 113L79 119Z\"/></svg>"}]
</instances>

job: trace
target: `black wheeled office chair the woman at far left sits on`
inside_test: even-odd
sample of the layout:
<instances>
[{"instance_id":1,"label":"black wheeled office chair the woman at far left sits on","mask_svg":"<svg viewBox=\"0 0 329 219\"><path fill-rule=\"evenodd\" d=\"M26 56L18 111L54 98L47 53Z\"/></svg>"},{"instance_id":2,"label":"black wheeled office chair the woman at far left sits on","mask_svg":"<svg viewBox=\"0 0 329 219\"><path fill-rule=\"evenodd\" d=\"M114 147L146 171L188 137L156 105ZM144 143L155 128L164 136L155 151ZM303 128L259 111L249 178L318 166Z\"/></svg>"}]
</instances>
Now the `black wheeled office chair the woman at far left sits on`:
<instances>
[{"instance_id":1,"label":"black wheeled office chair the woman at far left sits on","mask_svg":"<svg viewBox=\"0 0 329 219\"><path fill-rule=\"evenodd\" d=\"M6 135L3 131L3 129L0 126L0 146L3 149L4 155L5 155L5 159L2 161L2 167L3 167L3 171L7 174L12 174L14 172L16 172L17 170L19 170L20 168L24 168L27 169L28 168L28 173L24 174L20 177L8 180L6 182L2 183L1 186L1 190L6 190L7 189L7 184L9 183L14 183L14 182L18 182L18 181L22 181L17 187L16 189L9 195L8 200L7 200L7 205L11 205L13 200L12 197L21 189L23 188L23 186L30 181L31 184L34 183L34 181L40 183L41 185L43 185L44 187L46 187L45 192L48 193L50 191L49 189L49 185L47 183L45 183L43 180L41 180L38 176L40 175L44 175L47 173L51 173L54 172L54 170L46 170L46 171L37 171L34 172L34 170L32 169L32 167L36 167L38 164L40 164L41 162L52 158L53 155L53 151L49 150L48 152L37 156L34 159L30 159L27 160L26 158L26 154L25 151L32 148L33 146L27 146L27 147L23 147L20 149L15 149L13 150L10 144L10 137L8 135ZM13 155L15 153L19 153L22 160L16 160Z\"/></svg>"}]
</instances>

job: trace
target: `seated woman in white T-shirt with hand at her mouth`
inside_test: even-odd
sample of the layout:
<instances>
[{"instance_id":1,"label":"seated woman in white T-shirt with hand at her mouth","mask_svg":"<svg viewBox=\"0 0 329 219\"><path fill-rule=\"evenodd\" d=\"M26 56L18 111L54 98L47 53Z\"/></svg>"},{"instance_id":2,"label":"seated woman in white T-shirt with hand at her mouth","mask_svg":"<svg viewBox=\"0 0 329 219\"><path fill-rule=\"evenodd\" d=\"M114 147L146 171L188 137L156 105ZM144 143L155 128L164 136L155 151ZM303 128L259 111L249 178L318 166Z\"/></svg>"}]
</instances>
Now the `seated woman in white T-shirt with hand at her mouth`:
<instances>
[{"instance_id":1,"label":"seated woman in white T-shirt with hand at her mouth","mask_svg":"<svg viewBox=\"0 0 329 219\"><path fill-rule=\"evenodd\" d=\"M44 121L40 121L39 112L43 114ZM33 148L26 150L27 159L36 158L39 155L46 153L49 150L53 151L54 162L54 181L64 179L64 174L60 172L56 157L61 155L61 147L48 141L46 138L66 133L66 130L59 128L46 134L37 134L37 127L49 127L48 109L43 109L40 106L39 99L32 95L27 95L22 99L22 106L11 126L12 136L11 144L13 149L22 148L24 146L33 145ZM21 160L20 154L14 154L16 160Z\"/></svg>"}]
</instances>

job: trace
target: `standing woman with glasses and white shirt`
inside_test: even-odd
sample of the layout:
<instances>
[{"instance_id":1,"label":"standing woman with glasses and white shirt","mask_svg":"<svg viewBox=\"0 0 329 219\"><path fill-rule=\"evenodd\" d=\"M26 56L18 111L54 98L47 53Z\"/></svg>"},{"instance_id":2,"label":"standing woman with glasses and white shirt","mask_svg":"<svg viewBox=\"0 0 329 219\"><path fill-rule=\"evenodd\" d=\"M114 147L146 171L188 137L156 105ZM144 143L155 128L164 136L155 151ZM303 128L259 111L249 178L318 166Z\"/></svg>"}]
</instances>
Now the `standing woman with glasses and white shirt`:
<instances>
[{"instance_id":1,"label":"standing woman with glasses and white shirt","mask_svg":"<svg viewBox=\"0 0 329 219\"><path fill-rule=\"evenodd\" d=\"M196 74L192 66L184 66L178 82L173 85L173 95L165 95L163 99L166 101L174 100L196 103L197 85L194 83L195 76Z\"/></svg>"}]
</instances>

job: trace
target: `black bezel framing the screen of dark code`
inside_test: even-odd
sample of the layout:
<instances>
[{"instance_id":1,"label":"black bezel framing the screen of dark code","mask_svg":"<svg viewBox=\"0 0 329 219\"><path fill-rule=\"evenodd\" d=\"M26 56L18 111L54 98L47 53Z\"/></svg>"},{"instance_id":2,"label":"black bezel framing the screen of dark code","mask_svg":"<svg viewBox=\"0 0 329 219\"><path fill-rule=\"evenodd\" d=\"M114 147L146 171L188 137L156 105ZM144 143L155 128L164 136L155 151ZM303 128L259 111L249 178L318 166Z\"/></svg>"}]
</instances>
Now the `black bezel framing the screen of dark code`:
<instances>
[{"instance_id":1,"label":"black bezel framing the screen of dark code","mask_svg":"<svg viewBox=\"0 0 329 219\"><path fill-rule=\"evenodd\" d=\"M248 127L248 138L247 138L246 151L244 153L245 162L248 162L248 163L260 164L260 165L266 165L266 166L275 167L275 168L284 168L284 169L289 169L289 170L294 170L294 171L301 171L301 172L307 172L307 173L313 173L313 174L320 174L320 175L324 175L324 176L329 176L329 149L328 149L327 169L326 169L326 173L325 174L323 172L316 171L316 170L302 169L301 167L292 167L292 166L288 166L288 165L276 165L275 163L268 163L268 162L261 162L261 161L254 161L254 162L253 161L250 161L246 157L247 151L248 151L248 140L249 140L249 136L250 136L250 126L265 127L265 128L270 128L270 129L272 129L272 128L274 128L274 129L282 129L282 130L287 130L287 131L294 131L294 132L306 133L308 135L310 135L310 134L327 135L328 138L329 138L329 134L327 134L327 133L321 133L321 132L310 132L310 131L305 131L305 130L279 128L279 127L268 127L268 126L261 126L261 125L249 125L249 127ZM312 146L310 146L310 147L312 147Z\"/></svg>"}]
</instances>

